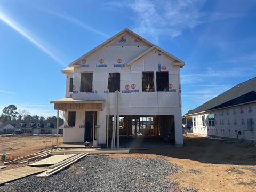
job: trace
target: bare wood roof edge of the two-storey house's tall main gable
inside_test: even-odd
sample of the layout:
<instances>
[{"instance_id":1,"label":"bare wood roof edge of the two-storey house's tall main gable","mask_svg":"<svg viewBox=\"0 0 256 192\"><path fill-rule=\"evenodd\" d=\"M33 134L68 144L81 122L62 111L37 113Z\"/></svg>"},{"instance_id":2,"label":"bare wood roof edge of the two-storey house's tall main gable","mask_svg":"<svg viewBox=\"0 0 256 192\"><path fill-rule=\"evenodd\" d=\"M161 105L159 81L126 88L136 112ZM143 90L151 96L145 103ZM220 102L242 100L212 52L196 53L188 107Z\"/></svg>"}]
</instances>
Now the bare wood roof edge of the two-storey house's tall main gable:
<instances>
[{"instance_id":1,"label":"bare wood roof edge of the two-storey house's tall main gable","mask_svg":"<svg viewBox=\"0 0 256 192\"><path fill-rule=\"evenodd\" d=\"M110 43L112 43L116 38L118 38L120 35L122 35L123 33L129 33L135 37L137 37L137 39L144 43L147 44L149 46L153 46L152 43L150 43L149 41L147 41L145 38L142 38L141 36L139 36L138 34L135 34L133 31L131 31L130 29L125 28L124 30L120 31L119 33L117 33L116 35L114 35L113 37L110 37L109 39L107 39L107 41L101 43L100 45L98 45L97 47L95 47L94 49L92 49L91 51L85 53L84 55L82 55L81 57L79 57L78 59L76 59L75 61L71 62L68 66L74 66L74 64L81 60L82 58L88 57L90 54L98 51L99 49L101 49L102 47L105 47L107 45L109 45Z\"/></svg>"}]
</instances>

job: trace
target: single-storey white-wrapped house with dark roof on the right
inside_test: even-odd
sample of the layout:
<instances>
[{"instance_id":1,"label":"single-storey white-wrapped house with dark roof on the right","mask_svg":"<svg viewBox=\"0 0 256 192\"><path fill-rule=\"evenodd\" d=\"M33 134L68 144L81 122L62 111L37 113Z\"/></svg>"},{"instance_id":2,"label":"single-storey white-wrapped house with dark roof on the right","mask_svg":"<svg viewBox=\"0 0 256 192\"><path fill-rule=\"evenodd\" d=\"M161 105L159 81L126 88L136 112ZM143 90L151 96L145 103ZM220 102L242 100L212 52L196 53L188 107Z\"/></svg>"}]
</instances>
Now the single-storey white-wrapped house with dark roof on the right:
<instances>
[{"instance_id":1,"label":"single-storey white-wrapped house with dark roof on the right","mask_svg":"<svg viewBox=\"0 0 256 192\"><path fill-rule=\"evenodd\" d=\"M193 132L256 141L256 77L188 111Z\"/></svg>"}]
</instances>

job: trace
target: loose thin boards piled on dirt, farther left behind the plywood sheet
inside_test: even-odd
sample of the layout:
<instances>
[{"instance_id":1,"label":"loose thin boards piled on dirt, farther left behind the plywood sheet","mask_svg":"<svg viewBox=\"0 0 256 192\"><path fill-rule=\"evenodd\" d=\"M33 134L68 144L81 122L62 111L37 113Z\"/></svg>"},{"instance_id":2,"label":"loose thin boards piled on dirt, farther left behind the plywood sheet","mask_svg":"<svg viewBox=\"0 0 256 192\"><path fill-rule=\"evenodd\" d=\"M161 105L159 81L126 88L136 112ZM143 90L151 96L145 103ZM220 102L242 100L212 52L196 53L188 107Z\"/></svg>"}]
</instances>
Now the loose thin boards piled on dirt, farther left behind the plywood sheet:
<instances>
[{"instance_id":1,"label":"loose thin boards piled on dirt, farther left behind the plywood sheet","mask_svg":"<svg viewBox=\"0 0 256 192\"><path fill-rule=\"evenodd\" d=\"M25 157L14 159L14 160L9 161L9 162L4 162L4 164L8 165L8 164L17 164L17 163L27 163L27 162L34 161L34 160L37 160L37 159L42 159L42 158L45 158L47 156L50 156L51 153L53 153L54 151L57 151L59 149L60 148L51 149L51 150L47 150L47 151L39 151L39 152L36 152L34 154L27 155Z\"/></svg>"}]
</instances>

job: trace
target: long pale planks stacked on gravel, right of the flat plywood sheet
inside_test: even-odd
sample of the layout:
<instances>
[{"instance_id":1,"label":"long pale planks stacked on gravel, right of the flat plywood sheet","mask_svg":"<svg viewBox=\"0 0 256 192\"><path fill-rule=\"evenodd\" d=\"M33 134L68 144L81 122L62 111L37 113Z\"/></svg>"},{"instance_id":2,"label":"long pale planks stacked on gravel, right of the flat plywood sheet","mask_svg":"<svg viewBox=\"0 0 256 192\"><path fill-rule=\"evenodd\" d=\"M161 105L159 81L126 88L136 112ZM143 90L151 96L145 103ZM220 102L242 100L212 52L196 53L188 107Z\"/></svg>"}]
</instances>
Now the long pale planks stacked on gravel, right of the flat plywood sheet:
<instances>
[{"instance_id":1,"label":"long pale planks stacked on gravel, right of the flat plywood sheet","mask_svg":"<svg viewBox=\"0 0 256 192\"><path fill-rule=\"evenodd\" d=\"M59 171L65 169L66 167L70 166L71 164L79 161L80 159L84 158L88 154L78 154L76 156L73 156L69 159L66 159L65 161L62 161L58 164L55 164L54 166L51 166L52 169L49 169L41 174L38 174L37 177L49 177L55 173L58 173Z\"/></svg>"}]
</instances>

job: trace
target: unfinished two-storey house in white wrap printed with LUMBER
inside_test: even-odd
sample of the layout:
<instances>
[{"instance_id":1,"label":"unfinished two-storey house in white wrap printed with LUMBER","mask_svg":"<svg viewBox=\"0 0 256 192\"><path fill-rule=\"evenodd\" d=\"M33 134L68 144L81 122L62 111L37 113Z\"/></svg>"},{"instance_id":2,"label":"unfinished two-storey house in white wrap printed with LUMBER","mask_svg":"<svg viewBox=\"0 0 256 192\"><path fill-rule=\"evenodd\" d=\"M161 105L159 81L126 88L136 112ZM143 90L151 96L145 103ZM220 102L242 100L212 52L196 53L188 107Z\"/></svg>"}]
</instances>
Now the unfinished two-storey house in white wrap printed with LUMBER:
<instances>
[{"instance_id":1,"label":"unfinished two-storey house in white wrap printed with LUMBER","mask_svg":"<svg viewBox=\"0 0 256 192\"><path fill-rule=\"evenodd\" d=\"M180 68L184 65L129 29L71 62L62 70L66 97L51 101L67 119L63 142L94 137L105 145L119 116L119 135L165 138L172 132L175 144L182 146Z\"/></svg>"}]
</instances>

